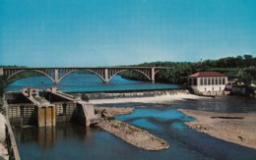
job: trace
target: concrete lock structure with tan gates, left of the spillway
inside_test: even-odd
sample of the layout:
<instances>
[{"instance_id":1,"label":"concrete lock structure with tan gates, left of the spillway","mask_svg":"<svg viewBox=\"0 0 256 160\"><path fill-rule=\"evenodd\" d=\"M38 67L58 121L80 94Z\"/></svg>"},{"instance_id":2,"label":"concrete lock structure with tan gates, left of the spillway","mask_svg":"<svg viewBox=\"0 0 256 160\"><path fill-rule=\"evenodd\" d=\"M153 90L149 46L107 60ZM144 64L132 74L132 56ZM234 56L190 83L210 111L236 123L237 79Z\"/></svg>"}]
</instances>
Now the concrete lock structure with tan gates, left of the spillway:
<instances>
[{"instance_id":1,"label":"concrete lock structure with tan gates, left of the spillway","mask_svg":"<svg viewBox=\"0 0 256 160\"><path fill-rule=\"evenodd\" d=\"M27 87L4 95L6 117L12 125L47 127L70 121L90 126L98 122L93 104L55 87L43 91Z\"/></svg>"}]
</instances>

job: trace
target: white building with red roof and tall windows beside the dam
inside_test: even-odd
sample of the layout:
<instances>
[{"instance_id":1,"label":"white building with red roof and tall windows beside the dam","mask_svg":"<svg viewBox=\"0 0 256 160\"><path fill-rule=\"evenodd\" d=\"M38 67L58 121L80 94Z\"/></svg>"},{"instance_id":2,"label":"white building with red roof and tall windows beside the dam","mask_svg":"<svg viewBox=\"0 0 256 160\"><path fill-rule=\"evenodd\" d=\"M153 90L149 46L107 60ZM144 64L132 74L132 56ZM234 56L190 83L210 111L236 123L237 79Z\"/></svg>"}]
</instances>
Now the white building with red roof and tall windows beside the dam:
<instances>
[{"instance_id":1,"label":"white building with red roof and tall windows beside the dam","mask_svg":"<svg viewBox=\"0 0 256 160\"><path fill-rule=\"evenodd\" d=\"M227 77L216 72L200 72L188 77L188 84L196 94L222 95Z\"/></svg>"}]
</instances>

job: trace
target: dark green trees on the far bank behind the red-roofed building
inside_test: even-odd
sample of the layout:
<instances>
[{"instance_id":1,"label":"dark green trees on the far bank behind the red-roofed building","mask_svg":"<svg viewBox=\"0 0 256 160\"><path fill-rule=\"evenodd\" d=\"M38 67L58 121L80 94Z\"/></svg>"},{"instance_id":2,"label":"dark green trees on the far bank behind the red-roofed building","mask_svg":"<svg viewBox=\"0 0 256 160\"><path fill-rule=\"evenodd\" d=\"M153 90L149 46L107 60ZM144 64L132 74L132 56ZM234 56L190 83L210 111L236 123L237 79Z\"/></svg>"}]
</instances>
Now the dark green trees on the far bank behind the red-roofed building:
<instances>
[{"instance_id":1,"label":"dark green trees on the far bank behind the red-roofed building","mask_svg":"<svg viewBox=\"0 0 256 160\"><path fill-rule=\"evenodd\" d=\"M140 67L169 67L169 70L159 72L155 79L157 82L184 84L187 77L197 72L219 72L228 78L237 79L246 84L256 80L256 58L251 55L225 57L219 60L205 60L200 62L152 62L136 66ZM120 73L128 80L147 80L145 76L133 71Z\"/></svg>"}]
</instances>

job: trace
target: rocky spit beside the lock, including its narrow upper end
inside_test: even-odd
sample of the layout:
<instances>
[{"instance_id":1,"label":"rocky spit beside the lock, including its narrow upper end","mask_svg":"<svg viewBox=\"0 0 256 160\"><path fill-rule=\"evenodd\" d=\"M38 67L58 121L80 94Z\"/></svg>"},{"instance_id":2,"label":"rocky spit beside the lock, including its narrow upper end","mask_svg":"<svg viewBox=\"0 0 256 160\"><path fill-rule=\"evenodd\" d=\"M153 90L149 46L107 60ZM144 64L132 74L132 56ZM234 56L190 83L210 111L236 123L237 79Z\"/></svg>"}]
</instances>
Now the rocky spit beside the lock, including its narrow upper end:
<instances>
[{"instance_id":1,"label":"rocky spit beside the lock, including its narrow upper end","mask_svg":"<svg viewBox=\"0 0 256 160\"><path fill-rule=\"evenodd\" d=\"M104 119L97 124L104 131L112 133L124 141L145 150L161 150L169 147L165 140L147 131L113 120L115 115L132 113L134 108L95 107L95 110L97 117Z\"/></svg>"}]
</instances>

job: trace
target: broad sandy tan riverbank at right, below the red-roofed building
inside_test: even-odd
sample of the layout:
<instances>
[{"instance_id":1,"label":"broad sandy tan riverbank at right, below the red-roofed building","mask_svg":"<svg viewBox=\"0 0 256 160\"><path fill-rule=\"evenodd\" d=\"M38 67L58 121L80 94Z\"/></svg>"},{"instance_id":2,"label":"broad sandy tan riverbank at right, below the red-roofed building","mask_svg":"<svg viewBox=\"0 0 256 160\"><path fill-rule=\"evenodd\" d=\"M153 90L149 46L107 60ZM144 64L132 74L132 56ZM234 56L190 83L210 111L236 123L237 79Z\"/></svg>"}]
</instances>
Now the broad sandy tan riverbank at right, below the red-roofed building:
<instances>
[{"instance_id":1,"label":"broad sandy tan riverbank at right, below the red-roofed building","mask_svg":"<svg viewBox=\"0 0 256 160\"><path fill-rule=\"evenodd\" d=\"M196 121L185 123L200 133L256 149L256 112L215 113L198 110L178 109Z\"/></svg>"}]
</instances>

